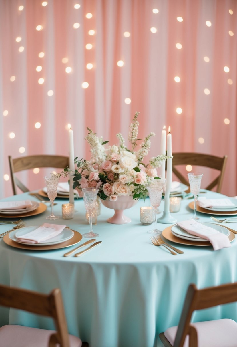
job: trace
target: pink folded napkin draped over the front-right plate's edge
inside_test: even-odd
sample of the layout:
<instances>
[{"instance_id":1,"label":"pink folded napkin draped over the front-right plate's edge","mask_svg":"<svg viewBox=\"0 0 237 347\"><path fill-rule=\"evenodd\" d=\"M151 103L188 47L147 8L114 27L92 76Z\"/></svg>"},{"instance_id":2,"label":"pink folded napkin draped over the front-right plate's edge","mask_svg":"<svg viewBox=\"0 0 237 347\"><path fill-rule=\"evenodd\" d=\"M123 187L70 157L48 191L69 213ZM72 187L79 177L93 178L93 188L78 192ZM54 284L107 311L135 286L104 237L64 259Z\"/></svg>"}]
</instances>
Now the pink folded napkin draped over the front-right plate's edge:
<instances>
[{"instance_id":1,"label":"pink folded napkin draped over the front-right plate's edge","mask_svg":"<svg viewBox=\"0 0 237 347\"><path fill-rule=\"evenodd\" d=\"M226 235L213 228L206 227L195 220L184 220L182 222L177 222L177 225L188 231L191 235L196 235L210 241L214 251L231 246L230 240Z\"/></svg>"}]
</instances>

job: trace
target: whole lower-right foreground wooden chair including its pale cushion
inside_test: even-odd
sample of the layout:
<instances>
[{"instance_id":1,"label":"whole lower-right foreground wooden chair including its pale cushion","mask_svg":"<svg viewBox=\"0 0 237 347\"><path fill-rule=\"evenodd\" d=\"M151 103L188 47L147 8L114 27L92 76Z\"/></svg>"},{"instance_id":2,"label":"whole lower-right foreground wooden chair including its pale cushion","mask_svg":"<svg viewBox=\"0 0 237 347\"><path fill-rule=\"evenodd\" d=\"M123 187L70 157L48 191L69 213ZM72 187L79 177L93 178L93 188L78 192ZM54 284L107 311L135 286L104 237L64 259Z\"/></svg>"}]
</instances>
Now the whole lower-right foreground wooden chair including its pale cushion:
<instances>
[{"instance_id":1,"label":"whole lower-right foreground wooden chair including its pale cushion","mask_svg":"<svg viewBox=\"0 0 237 347\"><path fill-rule=\"evenodd\" d=\"M237 301L237 282L217 287L187 290L178 327L159 334L165 347L235 347L237 323L231 319L190 323L196 310ZM187 336L188 335L188 336Z\"/></svg>"}]
</instances>

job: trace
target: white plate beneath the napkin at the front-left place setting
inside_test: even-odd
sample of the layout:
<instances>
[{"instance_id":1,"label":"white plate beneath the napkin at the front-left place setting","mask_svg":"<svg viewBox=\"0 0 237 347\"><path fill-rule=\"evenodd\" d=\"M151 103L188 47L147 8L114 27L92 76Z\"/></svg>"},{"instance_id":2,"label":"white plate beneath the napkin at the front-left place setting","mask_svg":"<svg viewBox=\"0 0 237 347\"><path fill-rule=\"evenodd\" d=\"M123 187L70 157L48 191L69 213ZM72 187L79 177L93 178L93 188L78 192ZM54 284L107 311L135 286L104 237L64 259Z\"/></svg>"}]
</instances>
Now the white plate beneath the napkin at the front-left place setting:
<instances>
[{"instance_id":1,"label":"white plate beneath the napkin at the front-left place setting","mask_svg":"<svg viewBox=\"0 0 237 347\"><path fill-rule=\"evenodd\" d=\"M18 241L18 239L16 238L16 236L21 236L26 234L27 232L31 232L35 229L39 228L39 226L33 226L33 227L25 227L25 228L21 228L21 230L14 230L11 231L9 234L9 238L17 243L21 243L23 245L30 245L30 246L49 246L49 245L56 245L58 243L64 242L69 240L70 238L73 237L74 232L71 229L65 228L63 229L62 232L60 232L60 234L58 234L55 237L52 237L51 239L48 239L46 241L42 241L40 243L27 243L27 242L20 242Z\"/></svg>"}]
</instances>

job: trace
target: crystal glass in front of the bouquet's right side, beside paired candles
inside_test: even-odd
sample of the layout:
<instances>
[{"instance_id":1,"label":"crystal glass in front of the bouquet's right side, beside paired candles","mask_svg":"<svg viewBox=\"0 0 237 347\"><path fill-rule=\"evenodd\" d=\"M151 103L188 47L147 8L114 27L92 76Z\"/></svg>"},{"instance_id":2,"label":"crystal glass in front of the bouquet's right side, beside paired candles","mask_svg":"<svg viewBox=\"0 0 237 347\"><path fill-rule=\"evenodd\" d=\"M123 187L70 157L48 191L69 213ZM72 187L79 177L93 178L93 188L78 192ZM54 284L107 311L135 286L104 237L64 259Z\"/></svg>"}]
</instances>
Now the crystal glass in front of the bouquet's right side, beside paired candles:
<instances>
[{"instance_id":1,"label":"crystal glass in front of the bouquet's right side, beside paired candles","mask_svg":"<svg viewBox=\"0 0 237 347\"><path fill-rule=\"evenodd\" d=\"M166 184L165 178L154 179L154 182L147 186L147 190L149 193L150 204L154 209L154 229L148 230L149 234L160 234L161 230L158 230L156 227L156 210L161 204L161 197L163 193L163 189Z\"/></svg>"}]
</instances>

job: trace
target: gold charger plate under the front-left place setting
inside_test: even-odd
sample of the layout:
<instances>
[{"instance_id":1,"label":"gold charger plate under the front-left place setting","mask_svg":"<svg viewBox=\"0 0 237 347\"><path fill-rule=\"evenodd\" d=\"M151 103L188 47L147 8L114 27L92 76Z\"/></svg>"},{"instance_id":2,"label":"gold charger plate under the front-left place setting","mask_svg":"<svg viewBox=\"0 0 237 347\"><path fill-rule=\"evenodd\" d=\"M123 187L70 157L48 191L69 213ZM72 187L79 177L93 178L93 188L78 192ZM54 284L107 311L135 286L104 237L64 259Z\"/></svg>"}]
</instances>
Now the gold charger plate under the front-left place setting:
<instances>
[{"instance_id":1,"label":"gold charger plate under the front-left place setting","mask_svg":"<svg viewBox=\"0 0 237 347\"><path fill-rule=\"evenodd\" d=\"M65 248L65 247L73 246L73 245L77 244L78 242L80 242L82 239L82 235L78 231L75 231L75 230L73 230L73 231L74 231L74 235L72 238L70 238L67 241L57 243L56 245L37 246L37 247L32 246L32 245L23 245L21 243L18 243L18 242L11 240L9 237L9 234L7 234L3 237L3 241L7 245L12 246L12 247L16 247L16 248L30 249L31 251L51 251L51 249Z\"/></svg>"}]
</instances>

